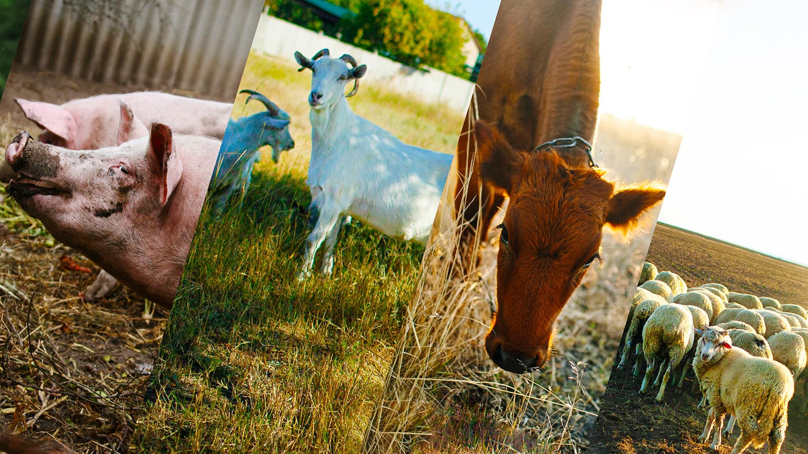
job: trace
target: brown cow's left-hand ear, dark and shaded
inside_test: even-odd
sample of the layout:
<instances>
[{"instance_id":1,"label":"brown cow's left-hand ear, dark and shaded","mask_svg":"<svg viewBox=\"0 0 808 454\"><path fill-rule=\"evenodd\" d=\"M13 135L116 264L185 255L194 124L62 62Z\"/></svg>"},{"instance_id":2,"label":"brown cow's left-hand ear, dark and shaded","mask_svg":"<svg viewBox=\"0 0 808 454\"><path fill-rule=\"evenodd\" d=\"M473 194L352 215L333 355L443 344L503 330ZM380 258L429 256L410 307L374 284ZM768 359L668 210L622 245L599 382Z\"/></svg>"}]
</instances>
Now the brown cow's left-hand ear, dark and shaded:
<instances>
[{"instance_id":1,"label":"brown cow's left-hand ear, dark and shaded","mask_svg":"<svg viewBox=\"0 0 808 454\"><path fill-rule=\"evenodd\" d=\"M483 181L499 187L507 194L519 180L525 153L513 149L505 137L485 121L474 122L477 160Z\"/></svg>"}]
</instances>

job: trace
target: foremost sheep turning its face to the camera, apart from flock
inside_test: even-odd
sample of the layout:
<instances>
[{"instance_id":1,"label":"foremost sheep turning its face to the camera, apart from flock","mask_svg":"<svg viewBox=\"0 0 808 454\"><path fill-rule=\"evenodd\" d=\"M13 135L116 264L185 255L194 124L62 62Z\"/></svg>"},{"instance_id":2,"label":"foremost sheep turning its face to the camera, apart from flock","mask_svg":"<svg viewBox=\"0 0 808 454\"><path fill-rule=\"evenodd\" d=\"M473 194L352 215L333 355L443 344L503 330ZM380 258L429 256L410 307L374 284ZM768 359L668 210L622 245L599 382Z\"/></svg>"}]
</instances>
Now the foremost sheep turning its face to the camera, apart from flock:
<instances>
[{"instance_id":1,"label":"foremost sheep turning its face to the camera, apart from flock","mask_svg":"<svg viewBox=\"0 0 808 454\"><path fill-rule=\"evenodd\" d=\"M722 443L726 413L734 414L741 428L732 452L740 454L750 444L760 448L768 441L769 452L778 454L788 427L788 404L794 393L793 377L782 364L750 355L732 347L726 330L711 326L696 330L693 370L709 401L710 411L701 441L717 428L710 448Z\"/></svg>"}]
</instances>

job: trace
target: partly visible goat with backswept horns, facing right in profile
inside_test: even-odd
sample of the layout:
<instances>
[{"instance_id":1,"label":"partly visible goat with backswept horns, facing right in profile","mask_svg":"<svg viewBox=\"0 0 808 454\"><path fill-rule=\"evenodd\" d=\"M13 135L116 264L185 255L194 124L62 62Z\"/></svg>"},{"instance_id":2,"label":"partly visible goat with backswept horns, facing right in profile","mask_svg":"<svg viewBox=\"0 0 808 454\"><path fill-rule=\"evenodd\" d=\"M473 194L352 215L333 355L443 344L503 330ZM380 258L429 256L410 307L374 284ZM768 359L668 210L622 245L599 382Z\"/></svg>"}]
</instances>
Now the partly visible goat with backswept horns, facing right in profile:
<instances>
[{"instance_id":1,"label":"partly visible goat with backswept horns, facing right in profile","mask_svg":"<svg viewBox=\"0 0 808 454\"><path fill-rule=\"evenodd\" d=\"M250 95L245 103L256 99L267 110L238 120L229 120L211 180L212 188L220 193L217 196L216 212L225 208L235 191L246 193L252 180L253 166L260 157L259 148L271 146L272 161L278 162L282 151L295 146L289 134L290 120L286 112L257 91L241 90L239 93Z\"/></svg>"}]
</instances>

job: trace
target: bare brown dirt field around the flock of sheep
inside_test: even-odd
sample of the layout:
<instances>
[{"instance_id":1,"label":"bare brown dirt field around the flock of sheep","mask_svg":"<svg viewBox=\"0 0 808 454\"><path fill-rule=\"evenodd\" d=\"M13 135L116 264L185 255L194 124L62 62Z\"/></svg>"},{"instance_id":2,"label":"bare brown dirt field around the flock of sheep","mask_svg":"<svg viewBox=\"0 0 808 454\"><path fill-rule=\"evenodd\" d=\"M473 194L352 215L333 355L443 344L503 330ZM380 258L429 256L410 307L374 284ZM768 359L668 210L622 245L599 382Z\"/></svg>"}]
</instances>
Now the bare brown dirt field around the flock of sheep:
<instances>
[{"instance_id":1,"label":"bare brown dirt field around the flock of sheep","mask_svg":"<svg viewBox=\"0 0 808 454\"><path fill-rule=\"evenodd\" d=\"M654 230L647 260L660 271L674 271L688 284L720 282L735 292L771 296L783 303L806 306L808 268L746 250L696 233L658 224ZM617 361L615 362L617 364ZM688 389L690 382L685 385ZM654 393L641 395L640 380L630 368L612 368L606 393L600 401L600 416L592 431L592 452L692 452L709 453L709 443L699 443L704 429L705 410L697 407L696 393L666 393L657 404ZM802 399L802 382L789 406L789 428L781 452L808 452L808 417L797 410ZM738 429L721 453L731 451ZM768 445L747 452L768 452Z\"/></svg>"}]
</instances>

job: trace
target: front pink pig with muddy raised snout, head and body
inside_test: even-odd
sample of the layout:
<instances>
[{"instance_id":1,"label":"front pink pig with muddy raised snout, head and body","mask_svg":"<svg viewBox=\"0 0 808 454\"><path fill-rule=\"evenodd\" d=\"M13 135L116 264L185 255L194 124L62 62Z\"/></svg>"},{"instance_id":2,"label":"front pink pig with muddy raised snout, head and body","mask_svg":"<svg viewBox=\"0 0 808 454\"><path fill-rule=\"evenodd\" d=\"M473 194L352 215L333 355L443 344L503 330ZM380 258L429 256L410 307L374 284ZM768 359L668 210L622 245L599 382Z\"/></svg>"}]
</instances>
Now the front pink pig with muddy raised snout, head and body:
<instances>
[{"instance_id":1,"label":"front pink pig with muddy raised snout, head and body","mask_svg":"<svg viewBox=\"0 0 808 454\"><path fill-rule=\"evenodd\" d=\"M70 150L21 132L6 148L9 194L54 238L150 300L170 307L221 141L175 135Z\"/></svg>"}]
</instances>

